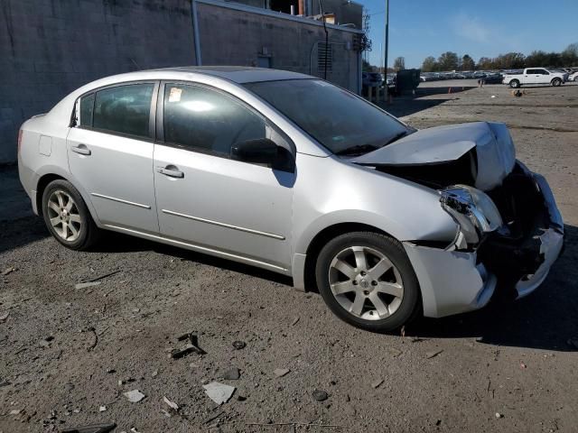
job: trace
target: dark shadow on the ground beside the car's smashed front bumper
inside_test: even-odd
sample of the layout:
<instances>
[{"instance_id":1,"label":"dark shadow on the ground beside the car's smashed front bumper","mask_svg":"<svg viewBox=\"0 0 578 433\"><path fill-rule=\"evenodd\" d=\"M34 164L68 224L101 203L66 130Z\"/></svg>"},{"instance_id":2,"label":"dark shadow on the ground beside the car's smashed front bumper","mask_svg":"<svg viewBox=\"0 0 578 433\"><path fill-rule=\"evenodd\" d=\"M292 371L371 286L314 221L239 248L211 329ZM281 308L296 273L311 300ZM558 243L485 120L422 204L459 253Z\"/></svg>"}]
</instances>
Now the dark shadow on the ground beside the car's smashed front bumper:
<instances>
[{"instance_id":1,"label":"dark shadow on the ground beside the car's smashed front bumper","mask_svg":"<svg viewBox=\"0 0 578 433\"><path fill-rule=\"evenodd\" d=\"M448 318L423 318L406 329L406 336L476 337L490 345L578 351L569 343L578 338L578 228L564 230L564 253L542 286L527 298L492 301L479 311Z\"/></svg>"}]
</instances>

